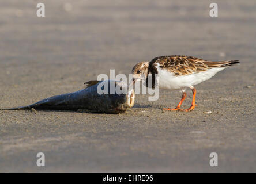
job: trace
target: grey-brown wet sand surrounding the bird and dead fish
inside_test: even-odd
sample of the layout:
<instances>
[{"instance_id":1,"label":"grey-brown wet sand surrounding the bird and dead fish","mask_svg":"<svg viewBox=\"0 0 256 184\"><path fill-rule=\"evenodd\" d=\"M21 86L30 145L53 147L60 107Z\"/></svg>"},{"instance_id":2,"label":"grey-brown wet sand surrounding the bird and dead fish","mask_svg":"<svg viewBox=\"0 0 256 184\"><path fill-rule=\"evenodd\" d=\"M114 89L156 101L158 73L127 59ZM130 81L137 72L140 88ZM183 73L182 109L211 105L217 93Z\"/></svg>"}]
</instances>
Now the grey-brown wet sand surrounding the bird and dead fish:
<instances>
[{"instance_id":1,"label":"grey-brown wet sand surrounding the bird and dead fish","mask_svg":"<svg viewBox=\"0 0 256 184\"><path fill-rule=\"evenodd\" d=\"M182 95L167 90L157 101L136 95L118 115L0 111L0 171L256 171L254 1L215 1L216 18L210 1L43 2L43 18L36 1L0 2L0 108L77 91L110 69L128 75L161 55L241 63L195 86L189 113L162 112Z\"/></svg>"}]
</instances>

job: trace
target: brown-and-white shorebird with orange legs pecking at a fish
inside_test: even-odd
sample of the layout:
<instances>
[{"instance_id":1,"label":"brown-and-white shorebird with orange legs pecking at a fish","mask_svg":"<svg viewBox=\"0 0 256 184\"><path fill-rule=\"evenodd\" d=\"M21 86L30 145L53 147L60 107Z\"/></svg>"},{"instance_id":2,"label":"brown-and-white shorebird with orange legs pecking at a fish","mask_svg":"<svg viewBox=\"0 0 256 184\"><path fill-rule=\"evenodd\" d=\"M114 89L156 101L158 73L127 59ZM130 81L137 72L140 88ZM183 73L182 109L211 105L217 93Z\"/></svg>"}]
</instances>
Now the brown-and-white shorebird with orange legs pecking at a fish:
<instances>
[{"instance_id":1,"label":"brown-and-white shorebird with orange legs pecking at a fish","mask_svg":"<svg viewBox=\"0 0 256 184\"><path fill-rule=\"evenodd\" d=\"M149 74L152 74L153 88L157 85L159 89L180 90L182 92L182 98L176 108L163 108L163 110L190 112L195 108L197 90L194 86L235 64L239 64L239 60L213 62L193 56L171 55L155 57L150 62L140 62L133 67L131 72L133 83L144 81L145 85L149 87L148 78ZM181 109L180 106L187 96L186 89L192 90L192 104L188 109Z\"/></svg>"}]
</instances>

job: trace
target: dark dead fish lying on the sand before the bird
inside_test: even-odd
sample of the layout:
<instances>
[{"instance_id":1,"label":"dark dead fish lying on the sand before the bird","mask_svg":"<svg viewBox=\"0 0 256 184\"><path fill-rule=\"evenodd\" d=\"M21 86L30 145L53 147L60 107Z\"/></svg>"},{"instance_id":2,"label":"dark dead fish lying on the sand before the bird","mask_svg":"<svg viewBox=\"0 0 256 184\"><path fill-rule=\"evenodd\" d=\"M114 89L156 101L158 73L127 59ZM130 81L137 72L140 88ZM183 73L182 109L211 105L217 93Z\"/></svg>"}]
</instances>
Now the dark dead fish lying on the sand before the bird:
<instances>
[{"instance_id":1,"label":"dark dead fish lying on the sand before the bird","mask_svg":"<svg viewBox=\"0 0 256 184\"><path fill-rule=\"evenodd\" d=\"M100 113L112 113L118 114L125 112L125 110L133 107L134 104L134 90L129 89L129 86L121 81L112 81L115 87L121 87L126 90L127 94L119 94L114 91L114 94L110 94L110 80L106 81L89 81L85 89L56 95L36 102L35 104L21 106L17 108L1 109L1 110L22 110L22 109L56 109L56 110L78 110L89 109ZM97 93L97 87L103 86L108 83L108 93Z\"/></svg>"}]
</instances>

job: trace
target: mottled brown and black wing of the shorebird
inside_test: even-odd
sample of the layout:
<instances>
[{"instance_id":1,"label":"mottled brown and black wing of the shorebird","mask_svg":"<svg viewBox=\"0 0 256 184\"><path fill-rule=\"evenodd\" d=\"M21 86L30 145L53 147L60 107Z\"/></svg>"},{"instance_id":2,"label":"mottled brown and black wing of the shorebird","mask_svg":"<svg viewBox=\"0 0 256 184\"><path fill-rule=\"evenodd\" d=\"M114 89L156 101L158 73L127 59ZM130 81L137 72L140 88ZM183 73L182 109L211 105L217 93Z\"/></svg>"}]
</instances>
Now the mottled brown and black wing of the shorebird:
<instances>
[{"instance_id":1,"label":"mottled brown and black wing of the shorebird","mask_svg":"<svg viewBox=\"0 0 256 184\"><path fill-rule=\"evenodd\" d=\"M173 72L176 76L190 75L207 71L210 68L226 67L239 63L238 60L211 62L192 56L160 56L154 58L152 62L158 63L160 68Z\"/></svg>"}]
</instances>

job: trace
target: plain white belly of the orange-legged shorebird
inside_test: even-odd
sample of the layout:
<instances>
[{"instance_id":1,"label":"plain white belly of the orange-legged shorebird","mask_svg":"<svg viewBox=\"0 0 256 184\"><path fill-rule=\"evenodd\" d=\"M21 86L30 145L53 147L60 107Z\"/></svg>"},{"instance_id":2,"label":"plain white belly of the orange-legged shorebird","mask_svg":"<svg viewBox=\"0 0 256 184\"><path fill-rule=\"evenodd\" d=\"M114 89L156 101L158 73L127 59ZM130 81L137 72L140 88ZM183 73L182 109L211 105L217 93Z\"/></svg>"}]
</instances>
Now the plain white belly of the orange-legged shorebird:
<instances>
[{"instance_id":1,"label":"plain white belly of the orange-legged shorebird","mask_svg":"<svg viewBox=\"0 0 256 184\"><path fill-rule=\"evenodd\" d=\"M157 71L159 72L158 79L159 87L161 89L176 90L185 89L186 87L191 87L197 85L207 79L212 78L217 72L223 70L225 67L212 68L207 71L198 72L190 75L176 76L167 70L161 69L157 66Z\"/></svg>"}]
</instances>

